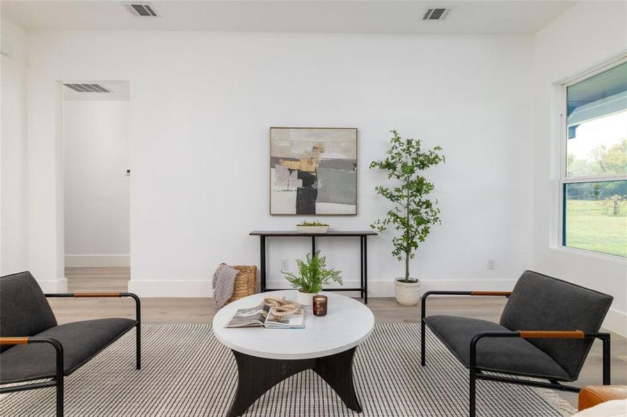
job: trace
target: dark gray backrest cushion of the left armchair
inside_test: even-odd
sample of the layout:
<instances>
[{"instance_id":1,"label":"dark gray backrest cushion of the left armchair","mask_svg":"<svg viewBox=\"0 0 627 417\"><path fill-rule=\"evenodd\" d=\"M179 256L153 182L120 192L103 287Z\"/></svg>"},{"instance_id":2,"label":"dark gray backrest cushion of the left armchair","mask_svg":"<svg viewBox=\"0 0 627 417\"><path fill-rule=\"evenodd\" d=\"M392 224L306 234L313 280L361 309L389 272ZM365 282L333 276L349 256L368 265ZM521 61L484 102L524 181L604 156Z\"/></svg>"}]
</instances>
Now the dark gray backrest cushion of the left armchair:
<instances>
[{"instance_id":1,"label":"dark gray backrest cushion of the left armchair","mask_svg":"<svg viewBox=\"0 0 627 417\"><path fill-rule=\"evenodd\" d=\"M0 278L0 336L34 336L56 326L56 318L31 272ZM10 345L0 345L0 352Z\"/></svg>"}]
</instances>

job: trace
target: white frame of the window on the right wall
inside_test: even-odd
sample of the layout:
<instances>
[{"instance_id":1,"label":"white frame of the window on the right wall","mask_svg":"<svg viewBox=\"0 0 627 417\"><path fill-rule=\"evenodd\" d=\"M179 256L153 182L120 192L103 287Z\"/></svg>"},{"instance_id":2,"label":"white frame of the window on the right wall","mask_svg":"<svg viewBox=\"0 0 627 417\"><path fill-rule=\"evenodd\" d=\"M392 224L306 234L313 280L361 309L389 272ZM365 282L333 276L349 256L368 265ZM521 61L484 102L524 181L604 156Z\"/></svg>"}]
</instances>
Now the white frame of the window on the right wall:
<instances>
[{"instance_id":1,"label":"white frame of the window on the right wall","mask_svg":"<svg viewBox=\"0 0 627 417\"><path fill-rule=\"evenodd\" d=\"M557 181L557 199L558 199L558 227L557 227L557 247L561 250L566 250L569 252L579 252L585 254L591 254L594 256L601 256L607 259L620 259L626 260L625 256L618 256L613 254L605 254L603 252L596 252L593 250L581 249L579 247L570 247L564 244L564 186L569 183L583 183L583 182L602 182L602 181L620 181L627 180L627 174L620 175L608 175L604 177L566 177L566 170L568 167L566 166L567 161L567 150L566 144L568 140L568 129L566 128L566 90L569 86L574 85L576 83L580 83L586 79L592 78L597 74L601 74L601 72L612 69L613 67L617 67L618 65L622 65L627 63L627 56L621 56L620 58L616 58L610 60L608 63L604 63L603 65L598 65L594 67L592 70L588 70L583 74L579 74L578 76L574 76L570 79L566 79L557 84L557 113L559 120L559 180Z\"/></svg>"}]
</instances>

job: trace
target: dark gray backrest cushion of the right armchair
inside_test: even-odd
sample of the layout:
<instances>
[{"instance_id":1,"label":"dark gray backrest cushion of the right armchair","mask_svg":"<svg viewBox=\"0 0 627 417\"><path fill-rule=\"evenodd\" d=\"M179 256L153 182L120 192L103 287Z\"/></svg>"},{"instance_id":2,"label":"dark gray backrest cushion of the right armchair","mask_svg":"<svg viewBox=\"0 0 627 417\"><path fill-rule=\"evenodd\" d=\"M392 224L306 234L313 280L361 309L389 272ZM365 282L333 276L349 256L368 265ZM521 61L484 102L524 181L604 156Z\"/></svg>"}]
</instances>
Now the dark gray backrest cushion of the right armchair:
<instances>
[{"instance_id":1,"label":"dark gray backrest cushion of the right armchair","mask_svg":"<svg viewBox=\"0 0 627 417\"><path fill-rule=\"evenodd\" d=\"M596 333L612 297L537 272L525 271L503 310L500 324L511 330L582 330ZM592 339L528 339L577 379Z\"/></svg>"}]
</instances>

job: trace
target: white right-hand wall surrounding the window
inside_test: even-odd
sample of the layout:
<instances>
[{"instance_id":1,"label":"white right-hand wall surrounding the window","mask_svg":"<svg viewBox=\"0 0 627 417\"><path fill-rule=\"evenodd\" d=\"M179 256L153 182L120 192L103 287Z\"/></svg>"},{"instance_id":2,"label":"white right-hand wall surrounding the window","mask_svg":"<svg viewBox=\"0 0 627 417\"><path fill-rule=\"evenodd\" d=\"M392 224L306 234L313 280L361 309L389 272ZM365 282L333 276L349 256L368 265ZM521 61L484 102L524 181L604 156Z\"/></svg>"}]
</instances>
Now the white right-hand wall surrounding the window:
<instances>
[{"instance_id":1,"label":"white right-hand wall surrounding the window","mask_svg":"<svg viewBox=\"0 0 627 417\"><path fill-rule=\"evenodd\" d=\"M627 3L583 1L534 37L532 267L614 296L604 326L627 335L627 263L559 246L559 109L555 83L627 53Z\"/></svg>"}]
</instances>

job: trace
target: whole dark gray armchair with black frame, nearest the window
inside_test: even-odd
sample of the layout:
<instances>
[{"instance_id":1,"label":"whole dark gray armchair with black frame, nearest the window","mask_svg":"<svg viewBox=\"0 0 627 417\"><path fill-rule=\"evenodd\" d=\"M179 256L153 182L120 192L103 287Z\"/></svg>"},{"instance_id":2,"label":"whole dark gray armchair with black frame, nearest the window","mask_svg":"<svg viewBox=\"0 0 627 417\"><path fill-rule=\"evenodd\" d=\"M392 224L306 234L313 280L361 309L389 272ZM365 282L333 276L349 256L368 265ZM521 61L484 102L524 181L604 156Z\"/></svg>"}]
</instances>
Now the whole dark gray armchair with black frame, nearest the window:
<instances>
[{"instance_id":1,"label":"whole dark gray armchair with black frame, nearest the window","mask_svg":"<svg viewBox=\"0 0 627 417\"><path fill-rule=\"evenodd\" d=\"M475 318L427 316L430 295L484 295L509 300L497 324ZM603 341L603 384L610 384L610 334L598 330L612 300L610 295L532 271L525 271L511 292L428 291L421 306L422 366L426 325L470 370L471 417L475 416L477 379L580 391L560 382L578 379L594 338Z\"/></svg>"}]
</instances>

